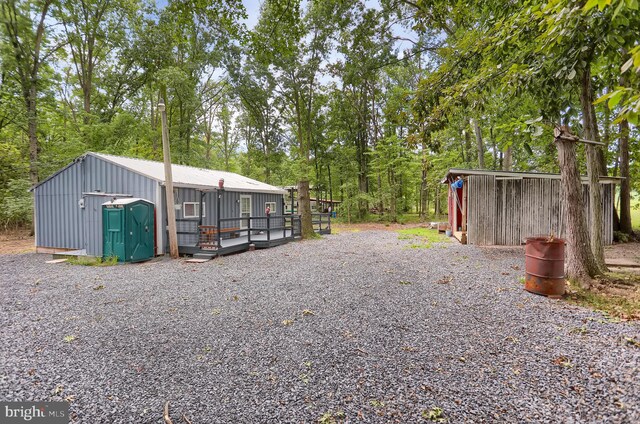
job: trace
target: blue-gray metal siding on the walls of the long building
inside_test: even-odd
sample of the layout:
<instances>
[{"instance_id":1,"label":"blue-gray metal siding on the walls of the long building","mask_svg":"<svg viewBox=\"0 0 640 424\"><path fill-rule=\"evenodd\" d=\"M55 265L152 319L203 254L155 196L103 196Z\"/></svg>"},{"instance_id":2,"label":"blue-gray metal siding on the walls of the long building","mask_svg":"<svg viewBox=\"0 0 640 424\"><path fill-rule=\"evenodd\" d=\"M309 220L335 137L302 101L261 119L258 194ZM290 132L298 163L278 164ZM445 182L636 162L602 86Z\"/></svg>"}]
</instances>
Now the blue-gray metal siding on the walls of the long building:
<instances>
[{"instance_id":1,"label":"blue-gray metal siding on the walls of the long building","mask_svg":"<svg viewBox=\"0 0 640 424\"><path fill-rule=\"evenodd\" d=\"M85 196L84 208L78 202L83 192L115 193L146 199L161 208L156 228L158 238L164 241L168 249L166 233L165 190L158 190L158 182L122 168L95 156L85 156L70 165L34 190L36 246L86 249L88 255L102 256L102 204L109 199L102 196ZM161 199L157 199L160 193ZM264 203L276 202L273 214L282 213L282 195L265 193L222 193L221 215L223 218L237 218L223 223L222 227L240 226L240 195L252 197L252 216L264 216ZM203 224L217 225L216 191L205 192L205 216ZM194 189L176 189L175 202L199 202L200 192ZM184 210L176 210L176 218L184 218ZM258 225L256 221L252 225ZM197 230L197 219L190 222L178 222L179 231ZM179 235L182 246L196 245L197 236Z\"/></svg>"}]
</instances>

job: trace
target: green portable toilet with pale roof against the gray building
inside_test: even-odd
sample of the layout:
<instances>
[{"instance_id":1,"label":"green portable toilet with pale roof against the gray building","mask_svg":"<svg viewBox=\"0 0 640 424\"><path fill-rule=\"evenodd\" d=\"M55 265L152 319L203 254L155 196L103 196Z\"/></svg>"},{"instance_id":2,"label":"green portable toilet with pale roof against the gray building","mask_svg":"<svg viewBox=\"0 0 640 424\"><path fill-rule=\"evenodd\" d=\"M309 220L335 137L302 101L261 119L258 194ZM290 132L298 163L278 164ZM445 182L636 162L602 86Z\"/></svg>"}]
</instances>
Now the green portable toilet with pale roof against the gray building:
<instances>
[{"instance_id":1,"label":"green portable toilet with pale roof against the gray building","mask_svg":"<svg viewBox=\"0 0 640 424\"><path fill-rule=\"evenodd\" d=\"M144 199L116 199L102 204L102 238L105 258L120 262L153 258L154 206Z\"/></svg>"}]
</instances>

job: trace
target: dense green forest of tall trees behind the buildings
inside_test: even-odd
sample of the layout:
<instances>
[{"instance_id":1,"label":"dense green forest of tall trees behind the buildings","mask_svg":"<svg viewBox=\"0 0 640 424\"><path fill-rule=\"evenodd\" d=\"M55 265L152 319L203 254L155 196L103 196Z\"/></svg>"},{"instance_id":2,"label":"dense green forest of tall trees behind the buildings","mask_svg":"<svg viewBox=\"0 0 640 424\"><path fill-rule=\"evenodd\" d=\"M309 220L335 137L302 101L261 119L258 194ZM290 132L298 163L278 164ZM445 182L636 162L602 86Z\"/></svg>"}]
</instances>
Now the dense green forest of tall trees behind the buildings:
<instances>
[{"instance_id":1,"label":"dense green forest of tall trees behind the buildings","mask_svg":"<svg viewBox=\"0 0 640 424\"><path fill-rule=\"evenodd\" d=\"M624 178L632 233L637 0L246 6L1 0L3 227L87 151L162 160L164 100L174 163L307 185L354 221L446 213L452 167L558 172L565 125L604 143L578 146L580 170Z\"/></svg>"}]
</instances>

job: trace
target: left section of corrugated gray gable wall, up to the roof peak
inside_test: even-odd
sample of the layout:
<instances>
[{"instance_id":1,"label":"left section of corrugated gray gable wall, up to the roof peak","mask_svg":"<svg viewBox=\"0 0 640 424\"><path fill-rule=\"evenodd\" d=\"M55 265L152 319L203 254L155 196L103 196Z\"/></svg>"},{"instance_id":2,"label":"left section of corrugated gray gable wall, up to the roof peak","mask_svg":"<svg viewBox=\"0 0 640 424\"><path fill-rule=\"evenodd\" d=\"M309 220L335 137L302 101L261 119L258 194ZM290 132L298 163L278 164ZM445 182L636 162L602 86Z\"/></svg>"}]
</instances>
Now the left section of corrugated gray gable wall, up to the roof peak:
<instances>
[{"instance_id":1,"label":"left section of corrugated gray gable wall, up to the roof peak","mask_svg":"<svg viewBox=\"0 0 640 424\"><path fill-rule=\"evenodd\" d=\"M34 190L36 246L84 248L82 167L76 162Z\"/></svg>"}]
</instances>

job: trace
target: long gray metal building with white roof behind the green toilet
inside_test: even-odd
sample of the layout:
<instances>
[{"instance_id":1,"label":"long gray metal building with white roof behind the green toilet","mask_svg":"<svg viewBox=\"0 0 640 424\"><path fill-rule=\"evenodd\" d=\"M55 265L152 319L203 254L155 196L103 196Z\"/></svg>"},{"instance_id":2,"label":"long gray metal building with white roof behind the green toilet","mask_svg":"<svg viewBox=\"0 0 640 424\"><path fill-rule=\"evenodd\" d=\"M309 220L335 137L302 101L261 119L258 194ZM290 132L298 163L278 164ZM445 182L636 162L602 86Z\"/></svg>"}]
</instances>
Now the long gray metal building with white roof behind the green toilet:
<instances>
[{"instance_id":1,"label":"long gray metal building with white roof behind the green toilet","mask_svg":"<svg viewBox=\"0 0 640 424\"><path fill-rule=\"evenodd\" d=\"M178 244L197 243L193 226L222 218L283 213L284 190L231 172L172 165ZM218 181L224 190L218 191ZM167 250L164 166L162 162L103 153L86 153L32 189L35 195L36 251L85 251L102 256L102 204L113 198L137 197L155 205L156 254ZM182 230L182 231L181 231Z\"/></svg>"}]
</instances>

